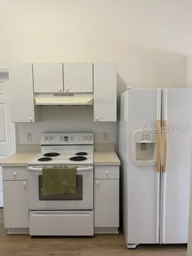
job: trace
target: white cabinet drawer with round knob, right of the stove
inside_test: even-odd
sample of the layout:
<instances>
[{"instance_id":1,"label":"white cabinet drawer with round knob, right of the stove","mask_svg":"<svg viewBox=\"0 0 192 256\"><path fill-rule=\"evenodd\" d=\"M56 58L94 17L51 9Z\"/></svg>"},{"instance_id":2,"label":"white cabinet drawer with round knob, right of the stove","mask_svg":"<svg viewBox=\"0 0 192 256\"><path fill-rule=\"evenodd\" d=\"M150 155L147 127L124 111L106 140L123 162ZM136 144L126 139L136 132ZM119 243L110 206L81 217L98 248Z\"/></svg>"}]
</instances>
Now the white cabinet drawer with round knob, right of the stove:
<instances>
[{"instance_id":1,"label":"white cabinet drawer with round knob, right of the stove","mask_svg":"<svg viewBox=\"0 0 192 256\"><path fill-rule=\"evenodd\" d=\"M119 179L119 166L95 166L94 179Z\"/></svg>"}]
</instances>

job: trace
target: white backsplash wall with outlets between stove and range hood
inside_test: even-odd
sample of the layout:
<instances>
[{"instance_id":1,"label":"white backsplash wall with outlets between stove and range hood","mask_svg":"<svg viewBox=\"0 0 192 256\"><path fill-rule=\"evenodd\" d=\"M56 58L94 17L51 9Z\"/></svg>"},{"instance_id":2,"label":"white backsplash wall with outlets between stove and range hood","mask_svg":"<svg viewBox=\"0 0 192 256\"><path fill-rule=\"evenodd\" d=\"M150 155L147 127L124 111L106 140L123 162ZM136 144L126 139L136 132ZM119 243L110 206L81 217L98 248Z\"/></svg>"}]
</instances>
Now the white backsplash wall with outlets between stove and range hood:
<instances>
[{"instance_id":1,"label":"white backsplash wall with outlets between stove and range hood","mask_svg":"<svg viewBox=\"0 0 192 256\"><path fill-rule=\"evenodd\" d=\"M92 106L42 106L42 122L17 124L18 144L26 144L26 132L32 132L28 144L39 144L42 131L92 131L95 143L117 144L117 125L114 122L93 122ZM102 132L109 132L109 140L102 140Z\"/></svg>"}]
</instances>

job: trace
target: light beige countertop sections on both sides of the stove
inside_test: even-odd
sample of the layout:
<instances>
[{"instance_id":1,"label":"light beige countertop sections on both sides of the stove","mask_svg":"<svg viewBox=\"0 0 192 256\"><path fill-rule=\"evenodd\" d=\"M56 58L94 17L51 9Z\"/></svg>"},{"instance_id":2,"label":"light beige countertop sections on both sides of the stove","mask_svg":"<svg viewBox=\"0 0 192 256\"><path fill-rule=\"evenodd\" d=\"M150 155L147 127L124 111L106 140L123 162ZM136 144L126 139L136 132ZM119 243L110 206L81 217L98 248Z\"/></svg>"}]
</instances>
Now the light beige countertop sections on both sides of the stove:
<instances>
[{"instance_id":1,"label":"light beige countertop sections on both sides of the stove","mask_svg":"<svg viewBox=\"0 0 192 256\"><path fill-rule=\"evenodd\" d=\"M2 159L0 166L27 166L27 163L37 154L38 152L15 153ZM120 165L120 161L115 151L94 151L94 165Z\"/></svg>"}]
</instances>

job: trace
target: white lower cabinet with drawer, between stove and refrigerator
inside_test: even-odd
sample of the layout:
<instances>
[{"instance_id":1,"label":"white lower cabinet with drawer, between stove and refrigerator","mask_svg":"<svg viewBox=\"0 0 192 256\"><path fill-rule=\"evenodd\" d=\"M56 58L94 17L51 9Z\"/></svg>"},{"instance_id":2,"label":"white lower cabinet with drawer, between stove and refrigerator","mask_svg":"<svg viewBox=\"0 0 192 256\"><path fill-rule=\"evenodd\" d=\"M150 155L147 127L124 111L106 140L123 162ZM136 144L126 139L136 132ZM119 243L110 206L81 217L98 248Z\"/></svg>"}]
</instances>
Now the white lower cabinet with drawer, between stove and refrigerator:
<instances>
[{"instance_id":1,"label":"white lower cabinet with drawer, between stove and refrigerator","mask_svg":"<svg viewBox=\"0 0 192 256\"><path fill-rule=\"evenodd\" d=\"M111 168L112 167L112 168ZM112 169L112 170L111 170ZM119 167L115 166L119 177ZM103 178L103 170L106 178ZM110 179L113 166L95 166L94 179L94 228L95 233L117 233L119 227L119 179ZM99 178L101 177L101 179Z\"/></svg>"}]
</instances>

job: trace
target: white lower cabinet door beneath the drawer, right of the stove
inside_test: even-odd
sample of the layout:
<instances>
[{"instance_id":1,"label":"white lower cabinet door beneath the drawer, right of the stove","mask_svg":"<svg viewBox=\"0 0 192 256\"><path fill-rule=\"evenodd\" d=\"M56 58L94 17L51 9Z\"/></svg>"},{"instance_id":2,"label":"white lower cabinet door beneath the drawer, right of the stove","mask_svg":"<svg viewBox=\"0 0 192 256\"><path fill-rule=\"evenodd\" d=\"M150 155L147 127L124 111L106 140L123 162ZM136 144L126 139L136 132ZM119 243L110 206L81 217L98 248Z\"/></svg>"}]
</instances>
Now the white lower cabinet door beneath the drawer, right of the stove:
<instances>
[{"instance_id":1,"label":"white lower cabinet door beneath the drawer, right of the stove","mask_svg":"<svg viewBox=\"0 0 192 256\"><path fill-rule=\"evenodd\" d=\"M119 180L94 180L94 227L119 227Z\"/></svg>"}]
</instances>

